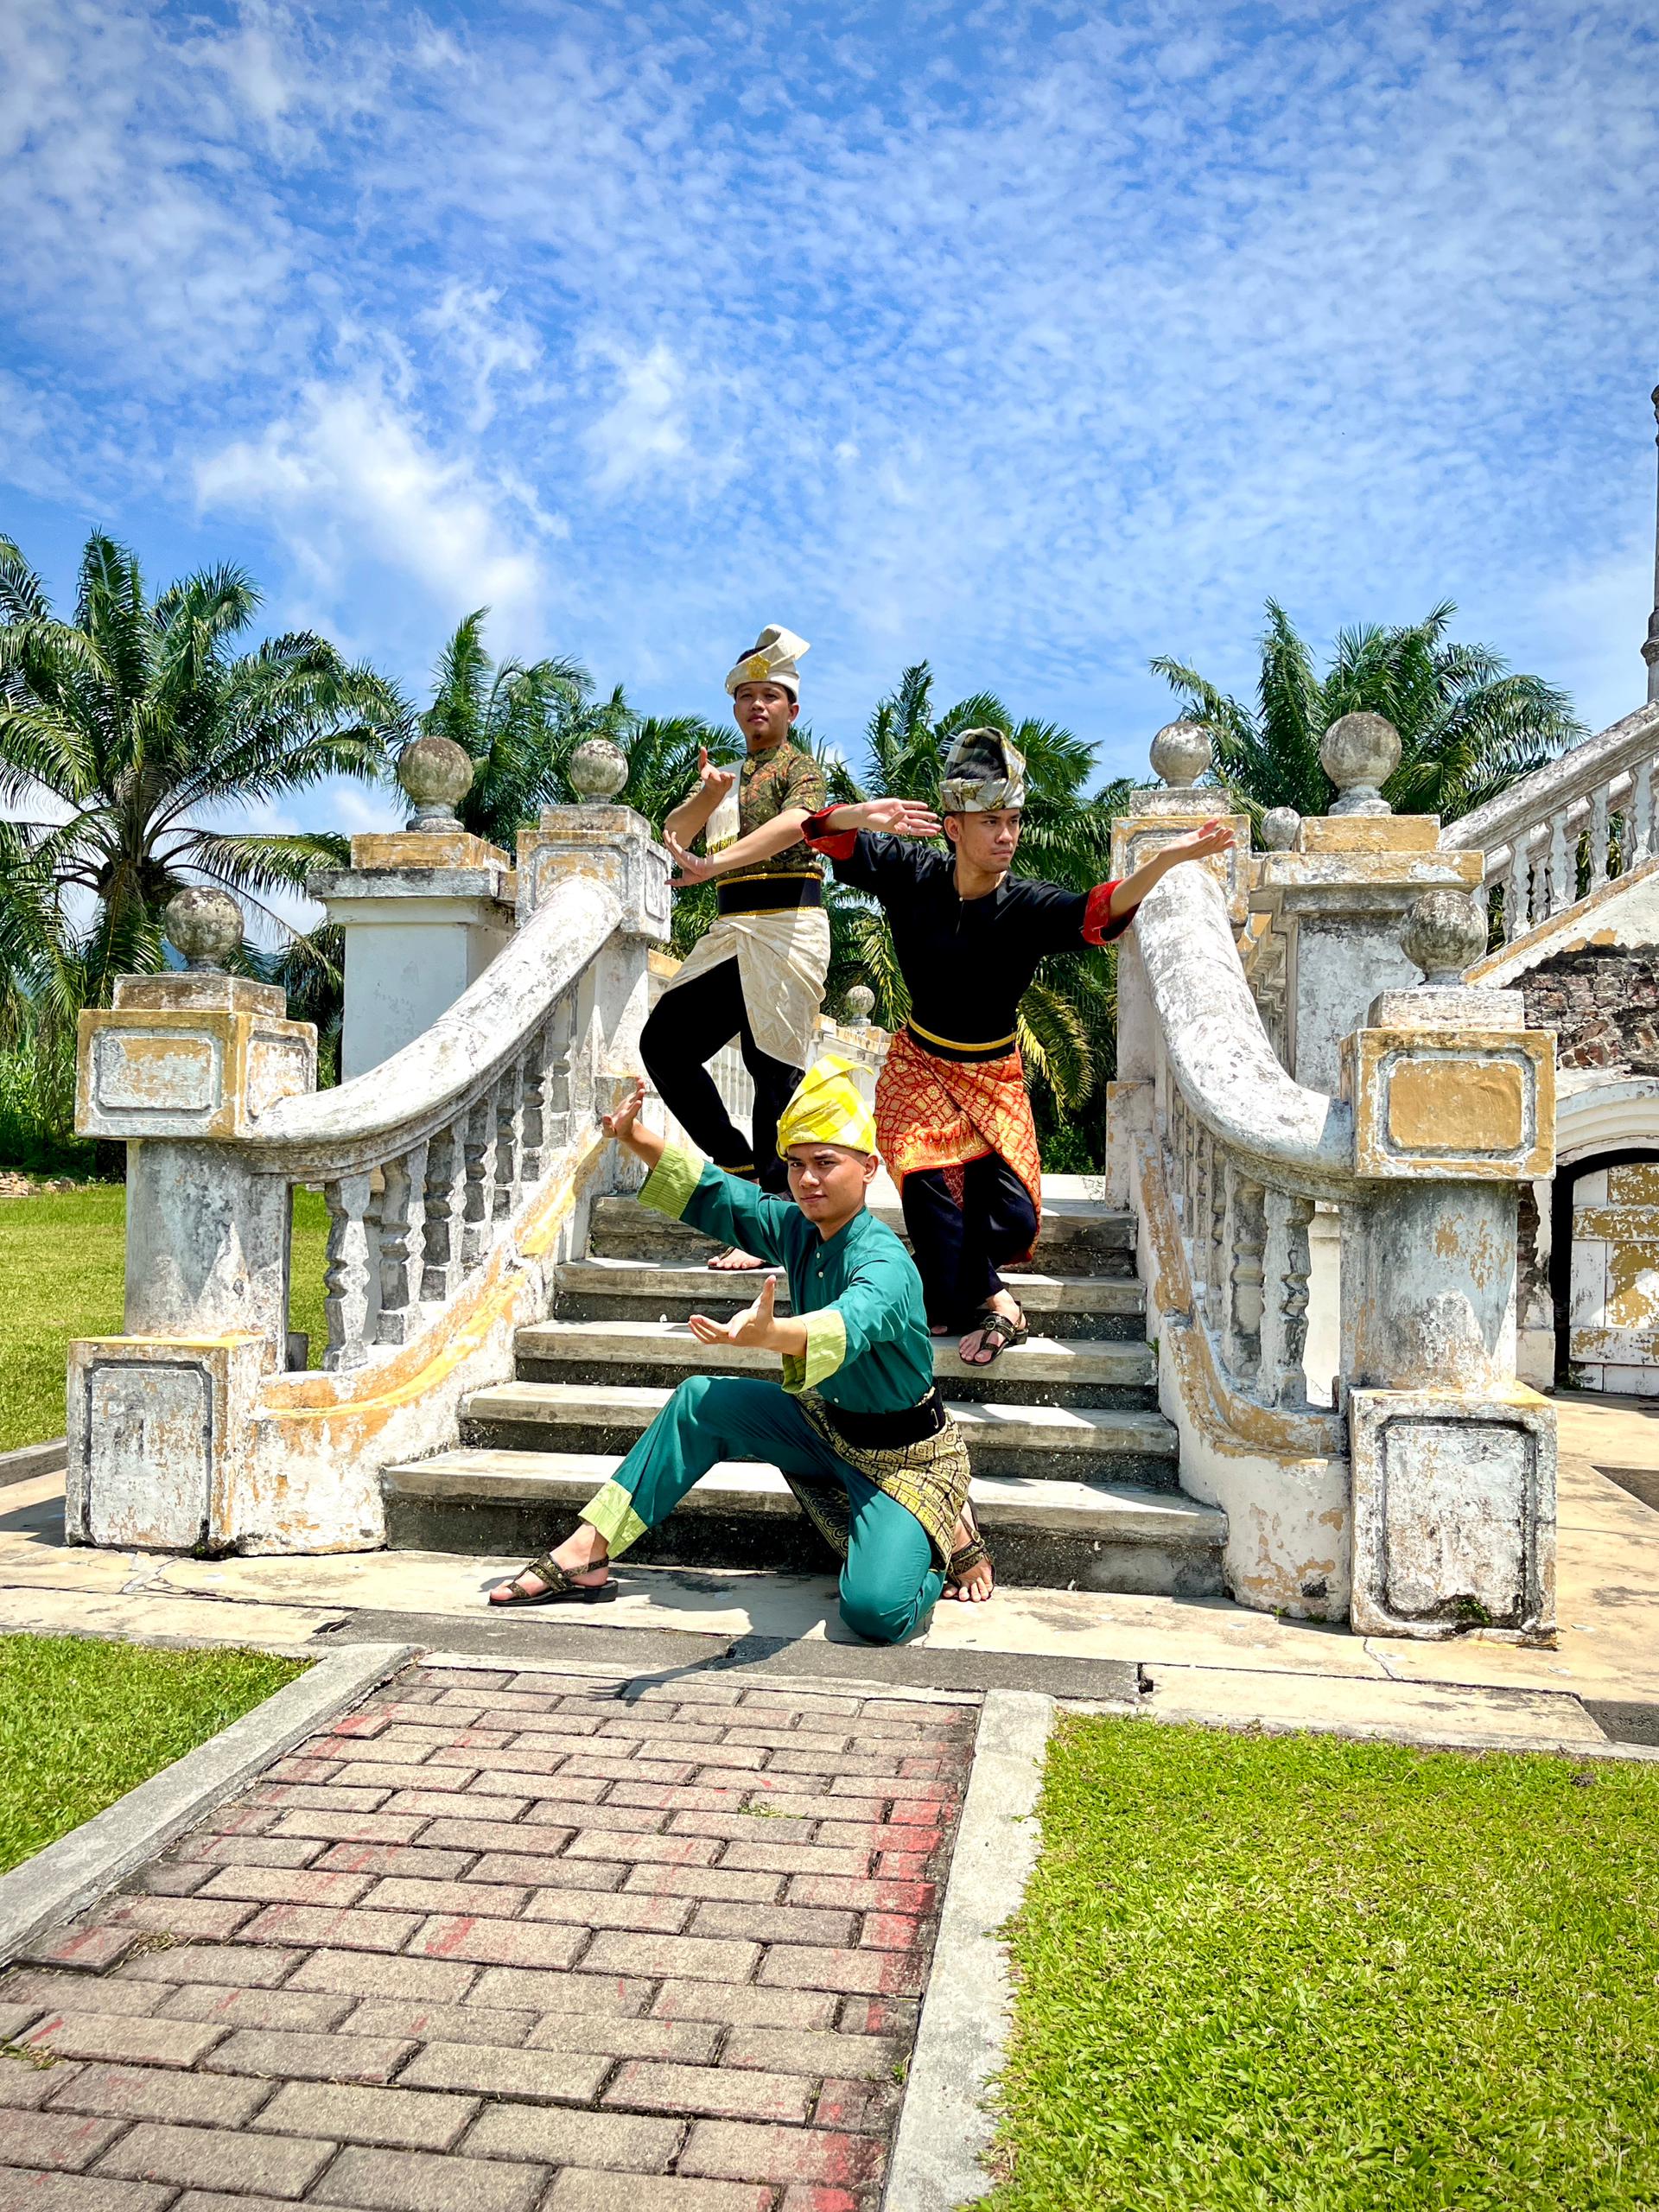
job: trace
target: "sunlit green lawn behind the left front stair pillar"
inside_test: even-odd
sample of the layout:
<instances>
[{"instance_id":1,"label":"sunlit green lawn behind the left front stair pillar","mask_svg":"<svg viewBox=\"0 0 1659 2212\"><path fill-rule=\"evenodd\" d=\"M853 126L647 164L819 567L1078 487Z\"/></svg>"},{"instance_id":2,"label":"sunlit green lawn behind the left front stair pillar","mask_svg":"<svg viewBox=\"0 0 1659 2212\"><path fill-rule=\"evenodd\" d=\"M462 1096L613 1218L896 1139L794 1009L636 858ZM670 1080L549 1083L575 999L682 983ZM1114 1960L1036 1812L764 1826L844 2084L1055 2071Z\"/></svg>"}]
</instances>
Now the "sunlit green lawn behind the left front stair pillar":
<instances>
[{"instance_id":1,"label":"sunlit green lawn behind the left front stair pillar","mask_svg":"<svg viewBox=\"0 0 1659 2212\"><path fill-rule=\"evenodd\" d=\"M307 1329L323 1360L323 1248L327 1208L294 1192L290 1327ZM64 1356L73 1336L122 1327L126 1190L88 1183L31 1199L0 1199L0 1451L64 1433Z\"/></svg>"}]
</instances>

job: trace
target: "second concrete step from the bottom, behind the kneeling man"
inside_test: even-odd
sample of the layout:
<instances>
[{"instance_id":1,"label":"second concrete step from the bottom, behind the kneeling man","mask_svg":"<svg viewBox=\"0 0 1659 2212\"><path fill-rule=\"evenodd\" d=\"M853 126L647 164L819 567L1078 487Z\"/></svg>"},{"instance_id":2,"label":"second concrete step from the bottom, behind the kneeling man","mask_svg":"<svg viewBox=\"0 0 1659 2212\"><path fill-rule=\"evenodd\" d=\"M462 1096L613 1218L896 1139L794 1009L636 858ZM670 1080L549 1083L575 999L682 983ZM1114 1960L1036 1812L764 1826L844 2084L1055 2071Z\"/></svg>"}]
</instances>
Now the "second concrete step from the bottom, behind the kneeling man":
<instances>
[{"instance_id":1,"label":"second concrete step from the bottom, behind the kneeling man","mask_svg":"<svg viewBox=\"0 0 1659 2212\"><path fill-rule=\"evenodd\" d=\"M498 1451L622 1453L668 1402L637 1383L500 1383L460 1409L460 1440ZM975 1475L1135 1482L1172 1491L1177 1433L1161 1413L947 1400Z\"/></svg>"}]
</instances>

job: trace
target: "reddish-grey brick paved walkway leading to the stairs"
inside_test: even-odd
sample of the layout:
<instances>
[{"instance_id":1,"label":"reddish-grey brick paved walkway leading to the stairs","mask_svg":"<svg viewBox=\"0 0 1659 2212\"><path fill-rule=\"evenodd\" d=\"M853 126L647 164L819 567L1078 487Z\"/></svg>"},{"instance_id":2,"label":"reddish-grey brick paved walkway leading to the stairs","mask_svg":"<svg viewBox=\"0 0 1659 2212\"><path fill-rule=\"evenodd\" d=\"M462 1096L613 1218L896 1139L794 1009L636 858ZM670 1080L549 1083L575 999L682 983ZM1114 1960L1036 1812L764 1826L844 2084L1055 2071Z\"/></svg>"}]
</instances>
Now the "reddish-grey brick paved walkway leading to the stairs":
<instances>
[{"instance_id":1,"label":"reddish-grey brick paved walkway leading to the stairs","mask_svg":"<svg viewBox=\"0 0 1659 2212\"><path fill-rule=\"evenodd\" d=\"M973 1723L405 1674L0 1980L0 2212L874 2212Z\"/></svg>"}]
</instances>

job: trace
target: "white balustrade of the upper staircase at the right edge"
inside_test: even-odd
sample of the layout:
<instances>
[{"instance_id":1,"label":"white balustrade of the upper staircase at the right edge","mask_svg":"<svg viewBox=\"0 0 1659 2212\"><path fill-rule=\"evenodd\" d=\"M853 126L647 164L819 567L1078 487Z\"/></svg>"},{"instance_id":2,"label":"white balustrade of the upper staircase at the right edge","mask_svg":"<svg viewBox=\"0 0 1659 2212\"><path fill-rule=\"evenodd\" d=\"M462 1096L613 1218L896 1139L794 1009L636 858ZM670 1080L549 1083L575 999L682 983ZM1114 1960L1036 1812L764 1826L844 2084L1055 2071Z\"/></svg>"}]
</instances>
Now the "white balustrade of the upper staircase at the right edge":
<instances>
[{"instance_id":1,"label":"white balustrade of the upper staircase at the right edge","mask_svg":"<svg viewBox=\"0 0 1659 2212\"><path fill-rule=\"evenodd\" d=\"M1513 945L1655 852L1659 703L1637 708L1440 832L1482 852Z\"/></svg>"}]
</instances>

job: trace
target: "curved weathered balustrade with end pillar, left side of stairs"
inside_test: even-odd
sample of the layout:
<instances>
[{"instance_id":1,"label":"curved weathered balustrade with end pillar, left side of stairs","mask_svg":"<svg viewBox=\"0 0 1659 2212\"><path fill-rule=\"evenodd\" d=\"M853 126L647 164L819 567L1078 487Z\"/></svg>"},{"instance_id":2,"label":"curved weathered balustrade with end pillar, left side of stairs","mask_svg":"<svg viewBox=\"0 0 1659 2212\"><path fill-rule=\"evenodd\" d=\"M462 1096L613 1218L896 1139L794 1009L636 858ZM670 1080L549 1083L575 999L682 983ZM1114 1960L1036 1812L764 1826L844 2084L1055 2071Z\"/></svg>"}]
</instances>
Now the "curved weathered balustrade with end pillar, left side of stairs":
<instances>
[{"instance_id":1,"label":"curved weathered balustrade with end pillar, left side of stairs","mask_svg":"<svg viewBox=\"0 0 1659 2212\"><path fill-rule=\"evenodd\" d=\"M436 902L453 834L409 832ZM394 858L418 876L418 852ZM334 1091L310 1026L241 978L124 978L84 1018L77 1128L128 1146L128 1250L126 1334L71 1349L73 1537L380 1544L380 1467L453 1442L465 1391L511 1374L608 1188L597 1115L639 1066L670 896L626 807L549 807L518 863L518 929L484 973ZM321 1374L285 1358L299 1186L330 1217Z\"/></svg>"}]
</instances>

